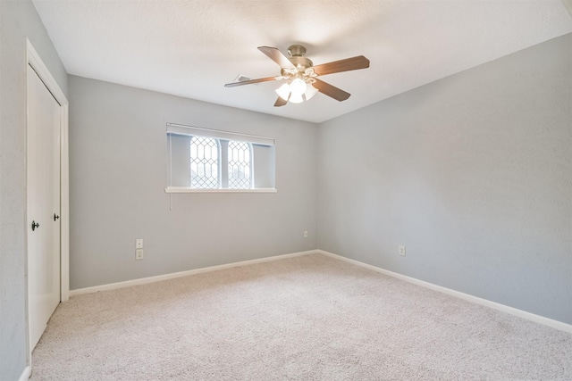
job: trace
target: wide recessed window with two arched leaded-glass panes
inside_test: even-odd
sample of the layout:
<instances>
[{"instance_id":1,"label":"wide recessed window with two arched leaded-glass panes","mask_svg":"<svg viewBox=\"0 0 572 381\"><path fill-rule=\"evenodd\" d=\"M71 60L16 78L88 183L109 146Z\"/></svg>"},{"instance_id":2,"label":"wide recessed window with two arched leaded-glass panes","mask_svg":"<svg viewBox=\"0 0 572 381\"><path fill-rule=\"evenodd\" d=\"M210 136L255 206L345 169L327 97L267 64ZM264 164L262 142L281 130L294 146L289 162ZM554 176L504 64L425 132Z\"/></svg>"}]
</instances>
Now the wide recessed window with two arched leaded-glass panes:
<instances>
[{"instance_id":1,"label":"wide recessed window with two arched leaded-glass panes","mask_svg":"<svg viewBox=\"0 0 572 381\"><path fill-rule=\"evenodd\" d=\"M274 141L167 124L168 193L273 192Z\"/></svg>"}]
</instances>

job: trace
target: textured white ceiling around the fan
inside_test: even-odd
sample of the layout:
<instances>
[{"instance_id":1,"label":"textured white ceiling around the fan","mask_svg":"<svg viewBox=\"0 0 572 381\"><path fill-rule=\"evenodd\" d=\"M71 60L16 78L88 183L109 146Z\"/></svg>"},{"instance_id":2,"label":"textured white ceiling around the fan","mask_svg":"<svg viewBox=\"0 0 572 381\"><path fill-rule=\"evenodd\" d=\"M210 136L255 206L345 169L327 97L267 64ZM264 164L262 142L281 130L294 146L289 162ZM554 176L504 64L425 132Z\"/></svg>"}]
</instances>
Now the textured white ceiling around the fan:
<instances>
[{"instance_id":1,"label":"textured white ceiling around the fan","mask_svg":"<svg viewBox=\"0 0 572 381\"><path fill-rule=\"evenodd\" d=\"M321 122L572 31L561 0L34 0L70 74ZM257 50L302 44L315 64L371 66L320 77L349 92L276 108L280 74ZM549 60L550 57L547 57Z\"/></svg>"}]
</instances>

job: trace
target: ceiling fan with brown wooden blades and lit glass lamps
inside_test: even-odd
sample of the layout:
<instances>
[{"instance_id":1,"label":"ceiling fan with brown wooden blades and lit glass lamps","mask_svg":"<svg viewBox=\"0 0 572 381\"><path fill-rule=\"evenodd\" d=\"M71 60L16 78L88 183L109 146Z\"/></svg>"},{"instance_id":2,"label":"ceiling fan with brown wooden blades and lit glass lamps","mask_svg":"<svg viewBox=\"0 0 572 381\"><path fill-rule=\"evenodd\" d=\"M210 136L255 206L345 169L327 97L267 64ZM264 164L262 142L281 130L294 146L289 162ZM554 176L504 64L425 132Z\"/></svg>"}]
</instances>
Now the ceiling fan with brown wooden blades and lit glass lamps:
<instances>
[{"instance_id":1,"label":"ceiling fan with brown wooden blades and lit glass lamps","mask_svg":"<svg viewBox=\"0 0 572 381\"><path fill-rule=\"evenodd\" d=\"M282 52L275 47L259 46L258 50L266 54L273 62L280 65L282 68L280 75L261 79L239 80L237 82L227 83L224 87L236 87L271 80L287 79L286 83L276 89L276 94L278 94L278 99L276 99L276 103L274 103L276 107L283 106L289 102L299 104L303 101L307 101L317 92L328 95L340 102L345 101L349 98L349 93L321 79L317 79L317 77L339 73L341 71L366 69L369 67L369 60L363 55L314 66L312 61L304 57L306 47L301 45L292 45L288 48L290 58L282 54Z\"/></svg>"}]
</instances>

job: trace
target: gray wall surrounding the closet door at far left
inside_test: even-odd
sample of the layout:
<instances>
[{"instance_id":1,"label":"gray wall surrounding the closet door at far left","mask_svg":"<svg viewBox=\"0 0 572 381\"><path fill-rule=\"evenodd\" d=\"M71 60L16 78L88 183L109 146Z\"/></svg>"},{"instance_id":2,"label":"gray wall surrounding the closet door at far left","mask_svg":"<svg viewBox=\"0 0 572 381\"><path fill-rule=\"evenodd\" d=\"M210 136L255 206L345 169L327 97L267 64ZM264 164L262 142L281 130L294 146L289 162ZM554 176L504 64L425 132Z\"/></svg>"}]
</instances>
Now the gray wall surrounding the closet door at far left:
<instances>
[{"instance_id":1,"label":"gray wall surrounding the closet door at far left","mask_svg":"<svg viewBox=\"0 0 572 381\"><path fill-rule=\"evenodd\" d=\"M26 368L26 44L67 94L67 74L34 5L0 1L0 379Z\"/></svg>"}]
</instances>

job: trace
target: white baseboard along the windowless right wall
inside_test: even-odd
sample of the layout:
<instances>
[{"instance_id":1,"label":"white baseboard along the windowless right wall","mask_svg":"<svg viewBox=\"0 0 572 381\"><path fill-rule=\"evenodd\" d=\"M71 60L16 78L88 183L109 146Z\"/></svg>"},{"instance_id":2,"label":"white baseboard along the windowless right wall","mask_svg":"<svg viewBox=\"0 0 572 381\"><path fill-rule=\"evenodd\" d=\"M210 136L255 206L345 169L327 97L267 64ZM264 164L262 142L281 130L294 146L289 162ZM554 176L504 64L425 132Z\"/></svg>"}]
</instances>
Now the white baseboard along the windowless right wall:
<instances>
[{"instance_id":1,"label":"white baseboard along the windowless right wall","mask_svg":"<svg viewBox=\"0 0 572 381\"><path fill-rule=\"evenodd\" d=\"M506 312L506 313L509 313L510 315L517 316L518 318L531 320L531 321L534 321L534 323L539 323L539 324L542 324L544 326L552 327L555 329L559 329L560 331L564 331L564 332L568 332L568 333L572 334L572 325L564 323L562 321L545 318L543 316L535 315L534 313L531 313L531 312L518 310L516 308L509 307L507 305L504 305L504 304L501 304L498 302L491 302L489 300L479 298L477 296L473 296L470 294L465 294L465 293L461 293L461 292L458 292L455 290L451 290L450 288L447 288L447 287L433 285L433 283L425 282L424 280L419 280L419 279L416 279L415 277L408 277L405 275L401 275L397 272L393 272L393 271L390 271L387 269L381 269L381 268L378 268L378 267L375 267L372 265L368 265L367 263L364 263L364 262L360 262L360 261L356 261L356 260L350 260L349 258L342 257L341 255L337 255L334 253L328 253L328 252L325 252L324 250L316 250L315 252L324 254L328 257L338 259L340 261L346 261L346 262L352 263L354 265L357 265L357 266L360 266L360 267L363 267L366 269L372 269L372 270L379 272L381 274L387 275L389 277L396 277L398 279L405 280L406 282L412 283L412 284L417 285L417 286L423 286L425 288L429 288L431 290L438 291L438 292L443 293L443 294L455 296L455 297L458 297L460 299L464 299L467 302L474 302L476 304L481 304L481 305L484 305L486 307L492 308L493 310Z\"/></svg>"}]
</instances>

